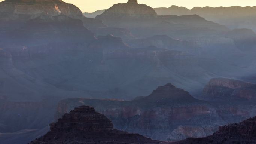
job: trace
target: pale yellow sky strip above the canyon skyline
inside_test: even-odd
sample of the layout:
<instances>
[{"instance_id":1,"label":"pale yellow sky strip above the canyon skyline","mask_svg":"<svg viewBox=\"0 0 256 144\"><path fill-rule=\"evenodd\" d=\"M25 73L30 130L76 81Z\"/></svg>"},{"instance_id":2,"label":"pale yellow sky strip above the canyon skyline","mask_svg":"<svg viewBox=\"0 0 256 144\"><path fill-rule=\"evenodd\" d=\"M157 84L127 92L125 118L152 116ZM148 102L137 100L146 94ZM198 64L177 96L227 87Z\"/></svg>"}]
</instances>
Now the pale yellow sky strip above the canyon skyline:
<instances>
[{"instance_id":1,"label":"pale yellow sky strip above the canyon skyline","mask_svg":"<svg viewBox=\"0 0 256 144\"><path fill-rule=\"evenodd\" d=\"M0 0L3 1L3 0ZM63 0L79 7L82 12L94 12L108 9L117 3L126 3L128 0ZM255 0L137 0L138 3L147 4L150 7L171 7L172 5L187 7L228 7L228 6L256 6Z\"/></svg>"}]
</instances>

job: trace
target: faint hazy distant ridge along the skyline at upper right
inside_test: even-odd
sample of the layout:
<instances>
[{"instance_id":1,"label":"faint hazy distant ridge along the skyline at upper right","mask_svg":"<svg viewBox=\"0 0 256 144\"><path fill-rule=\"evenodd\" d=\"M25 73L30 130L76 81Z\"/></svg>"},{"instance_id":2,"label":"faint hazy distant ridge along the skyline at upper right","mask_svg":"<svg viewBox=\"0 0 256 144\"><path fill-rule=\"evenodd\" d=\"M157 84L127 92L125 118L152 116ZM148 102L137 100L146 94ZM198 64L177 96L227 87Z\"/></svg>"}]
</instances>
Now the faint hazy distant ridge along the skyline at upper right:
<instances>
[{"instance_id":1,"label":"faint hazy distant ridge along the skyline at upper right","mask_svg":"<svg viewBox=\"0 0 256 144\"><path fill-rule=\"evenodd\" d=\"M158 15L199 15L229 28L249 28L256 31L256 6L250 7L186 7L155 8Z\"/></svg>"}]
</instances>

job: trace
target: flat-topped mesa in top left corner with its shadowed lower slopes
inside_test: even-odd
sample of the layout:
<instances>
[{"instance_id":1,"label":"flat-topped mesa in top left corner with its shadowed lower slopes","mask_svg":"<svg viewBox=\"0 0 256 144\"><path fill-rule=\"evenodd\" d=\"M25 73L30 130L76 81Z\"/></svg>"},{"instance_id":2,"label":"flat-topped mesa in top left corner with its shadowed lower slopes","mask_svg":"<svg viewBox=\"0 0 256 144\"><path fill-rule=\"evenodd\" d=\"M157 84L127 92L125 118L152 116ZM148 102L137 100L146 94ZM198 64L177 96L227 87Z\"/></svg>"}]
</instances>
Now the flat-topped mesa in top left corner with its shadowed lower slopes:
<instances>
[{"instance_id":1,"label":"flat-topped mesa in top left corner with its shadowed lower slopes","mask_svg":"<svg viewBox=\"0 0 256 144\"><path fill-rule=\"evenodd\" d=\"M104 27L101 21L85 18L78 7L61 0L5 0L0 3L0 30L21 27L28 20L41 15L65 15L82 20L87 28Z\"/></svg>"}]
</instances>

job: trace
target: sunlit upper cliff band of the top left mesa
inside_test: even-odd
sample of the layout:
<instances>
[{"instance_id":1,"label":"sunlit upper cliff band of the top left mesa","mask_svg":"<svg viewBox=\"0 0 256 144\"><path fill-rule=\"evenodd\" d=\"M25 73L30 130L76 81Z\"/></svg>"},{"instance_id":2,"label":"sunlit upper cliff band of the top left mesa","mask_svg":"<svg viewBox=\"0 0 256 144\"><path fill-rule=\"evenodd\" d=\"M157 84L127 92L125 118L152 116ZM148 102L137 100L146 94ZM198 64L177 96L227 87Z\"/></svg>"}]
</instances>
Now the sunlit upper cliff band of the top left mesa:
<instances>
[{"instance_id":1,"label":"sunlit upper cliff band of the top left mesa","mask_svg":"<svg viewBox=\"0 0 256 144\"><path fill-rule=\"evenodd\" d=\"M0 7L1 13L12 14L13 16L30 15L30 18L41 14L68 15L73 18L82 15L78 7L61 0L6 0L1 2Z\"/></svg>"}]
</instances>

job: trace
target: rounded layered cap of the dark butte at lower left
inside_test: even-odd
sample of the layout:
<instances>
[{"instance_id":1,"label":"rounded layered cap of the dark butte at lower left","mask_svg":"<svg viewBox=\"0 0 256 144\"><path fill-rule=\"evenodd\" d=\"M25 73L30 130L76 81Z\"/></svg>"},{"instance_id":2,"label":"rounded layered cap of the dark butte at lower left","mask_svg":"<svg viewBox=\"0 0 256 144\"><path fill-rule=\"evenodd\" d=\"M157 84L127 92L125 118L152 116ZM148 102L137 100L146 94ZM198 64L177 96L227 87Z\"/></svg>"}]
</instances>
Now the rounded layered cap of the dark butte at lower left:
<instances>
[{"instance_id":1,"label":"rounded layered cap of the dark butte at lower left","mask_svg":"<svg viewBox=\"0 0 256 144\"><path fill-rule=\"evenodd\" d=\"M104 132L113 129L112 122L103 114L97 113L93 107L76 107L64 114L56 123L51 124L51 132L84 131Z\"/></svg>"}]
</instances>

